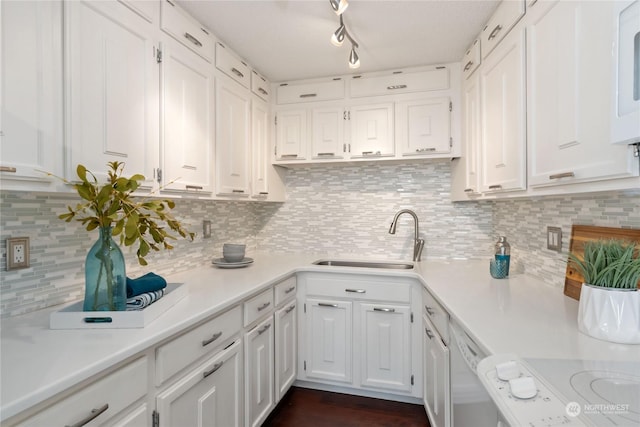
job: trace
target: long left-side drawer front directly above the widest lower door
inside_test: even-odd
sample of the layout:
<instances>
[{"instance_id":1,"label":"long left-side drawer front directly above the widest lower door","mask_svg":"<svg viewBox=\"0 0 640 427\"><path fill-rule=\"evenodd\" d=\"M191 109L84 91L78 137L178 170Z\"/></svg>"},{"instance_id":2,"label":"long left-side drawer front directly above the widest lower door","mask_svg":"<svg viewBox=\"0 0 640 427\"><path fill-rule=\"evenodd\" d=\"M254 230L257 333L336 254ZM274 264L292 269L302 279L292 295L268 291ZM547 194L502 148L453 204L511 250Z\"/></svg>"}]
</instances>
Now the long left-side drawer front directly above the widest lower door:
<instances>
[{"instance_id":1,"label":"long left-side drawer front directly above the widest lower door","mask_svg":"<svg viewBox=\"0 0 640 427\"><path fill-rule=\"evenodd\" d=\"M156 385L161 385L201 356L240 332L240 306L209 320L156 350Z\"/></svg>"}]
</instances>

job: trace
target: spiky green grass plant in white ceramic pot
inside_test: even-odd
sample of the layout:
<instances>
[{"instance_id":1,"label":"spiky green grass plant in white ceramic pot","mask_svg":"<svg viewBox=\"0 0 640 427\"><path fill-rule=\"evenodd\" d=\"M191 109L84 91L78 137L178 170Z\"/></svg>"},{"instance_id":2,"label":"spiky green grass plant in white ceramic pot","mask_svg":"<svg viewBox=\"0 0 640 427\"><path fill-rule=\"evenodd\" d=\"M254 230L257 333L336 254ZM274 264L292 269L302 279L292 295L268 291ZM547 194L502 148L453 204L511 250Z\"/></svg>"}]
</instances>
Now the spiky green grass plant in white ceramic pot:
<instances>
[{"instance_id":1,"label":"spiky green grass plant in white ceramic pot","mask_svg":"<svg viewBox=\"0 0 640 427\"><path fill-rule=\"evenodd\" d=\"M640 257L622 240L585 243L584 255L569 254L582 274L578 329L594 338L640 344Z\"/></svg>"}]
</instances>

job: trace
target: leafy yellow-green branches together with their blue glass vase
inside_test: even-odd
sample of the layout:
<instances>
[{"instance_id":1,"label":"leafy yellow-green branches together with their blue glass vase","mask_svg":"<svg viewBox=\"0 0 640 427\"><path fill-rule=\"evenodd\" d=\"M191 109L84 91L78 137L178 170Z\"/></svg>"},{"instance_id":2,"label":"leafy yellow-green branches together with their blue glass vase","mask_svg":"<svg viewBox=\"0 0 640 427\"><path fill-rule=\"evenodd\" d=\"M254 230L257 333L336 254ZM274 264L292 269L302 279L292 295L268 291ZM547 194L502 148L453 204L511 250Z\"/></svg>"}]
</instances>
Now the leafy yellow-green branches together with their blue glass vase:
<instances>
[{"instance_id":1,"label":"leafy yellow-green branches together with their blue glass vase","mask_svg":"<svg viewBox=\"0 0 640 427\"><path fill-rule=\"evenodd\" d=\"M169 241L175 240L176 234L191 240L195 236L171 215L175 207L172 200L134 196L144 176L126 178L122 176L124 166L117 161L108 163L105 183L99 183L83 165L76 169L79 182L60 178L78 192L82 202L68 206L59 218L80 221L87 231L98 229L100 233L86 258L84 311L126 309L124 256L113 236L119 236L125 246L137 244L141 265L147 265L145 257L151 250L172 249Z\"/></svg>"}]
</instances>

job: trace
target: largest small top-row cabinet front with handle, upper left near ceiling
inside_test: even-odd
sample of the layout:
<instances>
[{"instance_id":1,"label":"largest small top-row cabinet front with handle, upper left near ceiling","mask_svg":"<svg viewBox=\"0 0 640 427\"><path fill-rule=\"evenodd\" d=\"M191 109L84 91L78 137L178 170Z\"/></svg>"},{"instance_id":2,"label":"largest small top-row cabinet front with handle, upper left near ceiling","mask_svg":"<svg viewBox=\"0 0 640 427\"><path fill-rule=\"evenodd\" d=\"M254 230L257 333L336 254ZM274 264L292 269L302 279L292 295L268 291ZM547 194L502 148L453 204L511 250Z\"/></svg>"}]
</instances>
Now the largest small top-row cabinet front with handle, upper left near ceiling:
<instances>
[{"instance_id":1,"label":"largest small top-row cabinet front with handle, upper left near ceiling","mask_svg":"<svg viewBox=\"0 0 640 427\"><path fill-rule=\"evenodd\" d=\"M161 7L162 30L189 49L211 62L213 60L213 37L198 21L173 2L165 0Z\"/></svg>"}]
</instances>

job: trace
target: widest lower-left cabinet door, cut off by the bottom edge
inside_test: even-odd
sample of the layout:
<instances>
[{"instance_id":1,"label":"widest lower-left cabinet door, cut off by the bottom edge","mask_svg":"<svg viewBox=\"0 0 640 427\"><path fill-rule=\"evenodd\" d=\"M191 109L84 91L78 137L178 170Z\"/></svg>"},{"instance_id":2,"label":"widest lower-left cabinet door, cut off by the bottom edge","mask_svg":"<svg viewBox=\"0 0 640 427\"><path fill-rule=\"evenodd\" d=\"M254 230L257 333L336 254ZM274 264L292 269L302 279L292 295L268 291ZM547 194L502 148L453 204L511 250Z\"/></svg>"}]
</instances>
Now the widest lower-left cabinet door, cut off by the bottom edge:
<instances>
[{"instance_id":1,"label":"widest lower-left cabinet door, cut off by the bottom edge","mask_svg":"<svg viewBox=\"0 0 640 427\"><path fill-rule=\"evenodd\" d=\"M160 427L242 425L241 343L237 340L156 397Z\"/></svg>"}]
</instances>

